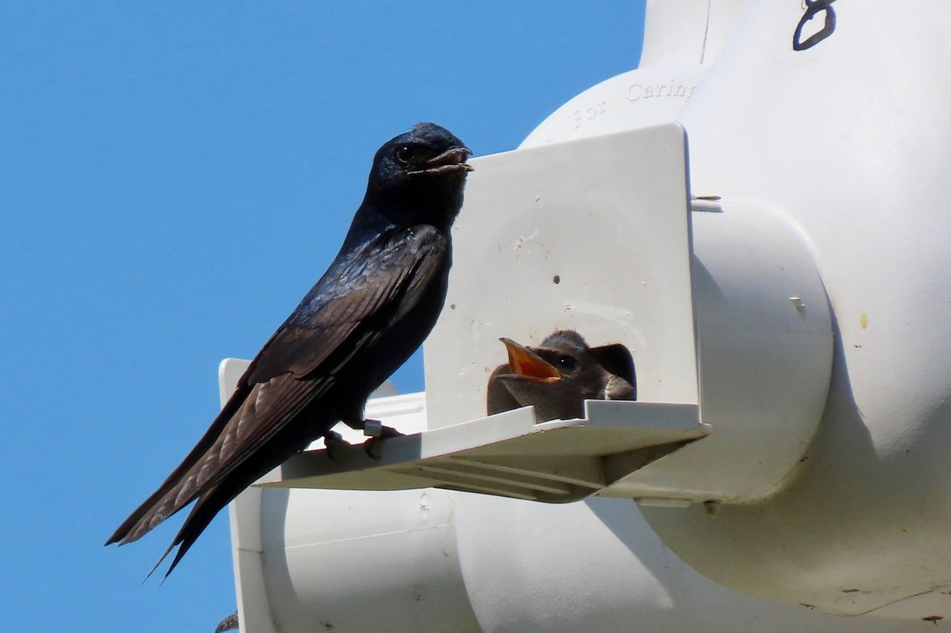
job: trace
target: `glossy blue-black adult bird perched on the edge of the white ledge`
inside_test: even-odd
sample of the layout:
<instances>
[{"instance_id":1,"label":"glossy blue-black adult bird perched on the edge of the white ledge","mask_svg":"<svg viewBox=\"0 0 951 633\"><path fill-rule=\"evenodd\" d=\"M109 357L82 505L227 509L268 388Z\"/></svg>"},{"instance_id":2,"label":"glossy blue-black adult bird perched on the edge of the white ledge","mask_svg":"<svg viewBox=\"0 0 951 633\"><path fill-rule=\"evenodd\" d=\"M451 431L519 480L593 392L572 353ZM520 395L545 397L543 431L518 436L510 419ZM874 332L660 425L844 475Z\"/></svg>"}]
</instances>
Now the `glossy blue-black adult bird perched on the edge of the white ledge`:
<instances>
[{"instance_id":1,"label":"glossy blue-black adult bird perched on the edge of the white ledge","mask_svg":"<svg viewBox=\"0 0 951 633\"><path fill-rule=\"evenodd\" d=\"M218 511L264 473L332 435L339 420L363 428L367 396L442 309L449 231L471 154L428 123L379 148L337 257L264 343L195 448L106 545L135 541L196 502L156 564L178 546L167 577Z\"/></svg>"}]
</instances>

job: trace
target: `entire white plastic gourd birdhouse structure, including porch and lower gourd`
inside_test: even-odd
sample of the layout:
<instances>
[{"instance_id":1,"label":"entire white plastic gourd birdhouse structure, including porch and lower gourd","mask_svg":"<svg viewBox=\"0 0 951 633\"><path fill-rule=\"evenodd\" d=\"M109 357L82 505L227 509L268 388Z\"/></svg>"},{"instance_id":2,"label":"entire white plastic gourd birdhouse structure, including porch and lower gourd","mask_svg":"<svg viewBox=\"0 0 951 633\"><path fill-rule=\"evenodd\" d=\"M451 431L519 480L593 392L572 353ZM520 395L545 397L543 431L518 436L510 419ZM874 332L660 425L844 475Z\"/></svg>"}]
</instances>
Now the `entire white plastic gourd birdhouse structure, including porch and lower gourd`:
<instances>
[{"instance_id":1,"label":"entire white plastic gourd birdhouse structure, including porch and lower gourd","mask_svg":"<svg viewBox=\"0 0 951 633\"><path fill-rule=\"evenodd\" d=\"M473 161L426 393L366 412L408 435L232 504L243 631L951 618L948 25L651 2L641 68ZM488 415L498 338L566 328L631 351L637 401Z\"/></svg>"}]
</instances>

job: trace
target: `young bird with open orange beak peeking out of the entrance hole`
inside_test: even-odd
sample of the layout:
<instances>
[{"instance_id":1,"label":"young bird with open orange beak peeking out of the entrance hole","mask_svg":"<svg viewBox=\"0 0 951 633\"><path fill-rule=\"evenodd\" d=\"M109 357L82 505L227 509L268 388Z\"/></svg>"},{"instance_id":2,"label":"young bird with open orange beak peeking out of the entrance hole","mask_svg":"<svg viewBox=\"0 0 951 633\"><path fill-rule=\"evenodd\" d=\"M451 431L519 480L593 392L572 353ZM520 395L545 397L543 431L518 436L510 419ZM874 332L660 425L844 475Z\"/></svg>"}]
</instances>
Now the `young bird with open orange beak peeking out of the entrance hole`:
<instances>
[{"instance_id":1,"label":"young bird with open orange beak peeking out of the entrance hole","mask_svg":"<svg viewBox=\"0 0 951 633\"><path fill-rule=\"evenodd\" d=\"M489 414L534 406L538 422L584 417L585 400L636 400L634 359L614 343L589 347L574 330L559 330L538 347L501 338L509 362L489 378Z\"/></svg>"}]
</instances>

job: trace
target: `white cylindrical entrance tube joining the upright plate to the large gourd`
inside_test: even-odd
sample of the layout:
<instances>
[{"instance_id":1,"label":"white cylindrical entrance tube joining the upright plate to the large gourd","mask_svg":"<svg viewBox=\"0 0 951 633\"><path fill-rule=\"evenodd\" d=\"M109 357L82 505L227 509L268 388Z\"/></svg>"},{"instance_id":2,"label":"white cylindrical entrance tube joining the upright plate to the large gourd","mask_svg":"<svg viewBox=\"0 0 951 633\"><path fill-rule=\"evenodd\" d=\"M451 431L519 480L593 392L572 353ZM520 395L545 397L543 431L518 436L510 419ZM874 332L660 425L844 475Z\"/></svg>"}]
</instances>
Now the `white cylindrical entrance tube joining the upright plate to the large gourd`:
<instances>
[{"instance_id":1,"label":"white cylindrical entrance tube joining the upright plate to the large gourd","mask_svg":"<svg viewBox=\"0 0 951 633\"><path fill-rule=\"evenodd\" d=\"M806 242L771 209L718 209L692 214L700 402L713 433L615 486L633 496L766 498L799 468L822 419L832 324Z\"/></svg>"}]
</instances>

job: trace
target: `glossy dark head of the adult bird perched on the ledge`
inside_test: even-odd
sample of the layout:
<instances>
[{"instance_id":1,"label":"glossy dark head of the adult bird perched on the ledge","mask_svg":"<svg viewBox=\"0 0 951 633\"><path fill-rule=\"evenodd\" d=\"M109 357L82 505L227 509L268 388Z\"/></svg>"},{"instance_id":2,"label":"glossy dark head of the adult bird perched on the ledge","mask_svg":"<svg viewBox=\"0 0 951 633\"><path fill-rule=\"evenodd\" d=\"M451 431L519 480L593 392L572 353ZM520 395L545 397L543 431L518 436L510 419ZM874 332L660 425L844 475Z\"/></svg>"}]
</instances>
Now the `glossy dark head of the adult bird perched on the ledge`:
<instances>
[{"instance_id":1,"label":"glossy dark head of the adult bird perched on the ledge","mask_svg":"<svg viewBox=\"0 0 951 633\"><path fill-rule=\"evenodd\" d=\"M390 139L377 151L366 202L397 224L449 229L462 206L472 151L445 127L431 123Z\"/></svg>"}]
</instances>

